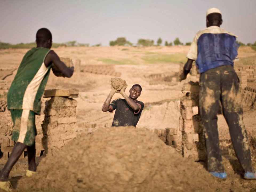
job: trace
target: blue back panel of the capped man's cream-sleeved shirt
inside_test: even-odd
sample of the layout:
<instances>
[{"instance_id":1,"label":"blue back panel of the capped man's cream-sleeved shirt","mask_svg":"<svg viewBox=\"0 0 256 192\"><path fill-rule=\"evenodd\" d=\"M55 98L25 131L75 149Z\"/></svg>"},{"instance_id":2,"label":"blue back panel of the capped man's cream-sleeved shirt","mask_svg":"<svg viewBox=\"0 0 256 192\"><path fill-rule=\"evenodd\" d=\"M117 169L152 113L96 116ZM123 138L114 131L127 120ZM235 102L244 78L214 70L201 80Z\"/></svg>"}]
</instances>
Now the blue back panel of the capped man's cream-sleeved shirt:
<instances>
[{"instance_id":1,"label":"blue back panel of the capped man's cream-sleeved shirt","mask_svg":"<svg viewBox=\"0 0 256 192\"><path fill-rule=\"evenodd\" d=\"M227 33L204 33L197 41L198 55L196 65L200 73L222 65L234 65L233 60L238 55L239 44L236 38Z\"/></svg>"}]
</instances>

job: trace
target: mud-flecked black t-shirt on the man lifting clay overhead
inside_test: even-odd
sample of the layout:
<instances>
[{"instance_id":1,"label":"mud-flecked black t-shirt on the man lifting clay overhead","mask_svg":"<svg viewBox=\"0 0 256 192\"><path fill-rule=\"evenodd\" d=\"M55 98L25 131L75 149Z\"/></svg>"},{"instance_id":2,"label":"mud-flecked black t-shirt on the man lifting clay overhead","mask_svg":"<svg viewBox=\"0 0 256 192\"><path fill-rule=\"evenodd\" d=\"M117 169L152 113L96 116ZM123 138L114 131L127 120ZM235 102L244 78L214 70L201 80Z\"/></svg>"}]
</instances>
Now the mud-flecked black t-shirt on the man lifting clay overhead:
<instances>
[{"instance_id":1,"label":"mud-flecked black t-shirt on the man lifting clay overhead","mask_svg":"<svg viewBox=\"0 0 256 192\"><path fill-rule=\"evenodd\" d=\"M128 105L128 103L125 101L125 99L116 99L110 103L110 106L112 107L112 111L109 111L110 113L113 113L115 111L114 119L112 126L134 126L136 127L139 118L141 117L141 112L144 107L144 103L141 101L135 101L135 103L139 106L141 106L140 110L135 113L133 109Z\"/></svg>"}]
</instances>

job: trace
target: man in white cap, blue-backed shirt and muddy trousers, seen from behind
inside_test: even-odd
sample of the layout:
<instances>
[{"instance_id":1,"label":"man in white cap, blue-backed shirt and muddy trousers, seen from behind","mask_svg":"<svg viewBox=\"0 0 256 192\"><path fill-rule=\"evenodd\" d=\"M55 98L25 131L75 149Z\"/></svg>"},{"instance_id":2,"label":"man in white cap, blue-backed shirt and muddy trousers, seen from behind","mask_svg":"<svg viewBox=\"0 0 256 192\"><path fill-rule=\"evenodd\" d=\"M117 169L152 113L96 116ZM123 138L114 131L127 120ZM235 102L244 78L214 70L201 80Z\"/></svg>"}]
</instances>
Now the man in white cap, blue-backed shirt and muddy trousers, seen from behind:
<instances>
[{"instance_id":1,"label":"man in white cap, blue-backed shirt and muddy trousers, seen from behind","mask_svg":"<svg viewBox=\"0 0 256 192\"><path fill-rule=\"evenodd\" d=\"M193 61L196 60L200 72L199 111L205 132L208 171L220 179L227 177L222 165L217 129L217 113L221 101L235 154L245 171L243 177L256 179L251 166L247 131L243 123L239 79L233 67L233 61L238 55L237 36L221 29L221 24L220 10L207 10L207 28L195 35L187 54L188 60L180 74L180 81L186 79Z\"/></svg>"}]
</instances>

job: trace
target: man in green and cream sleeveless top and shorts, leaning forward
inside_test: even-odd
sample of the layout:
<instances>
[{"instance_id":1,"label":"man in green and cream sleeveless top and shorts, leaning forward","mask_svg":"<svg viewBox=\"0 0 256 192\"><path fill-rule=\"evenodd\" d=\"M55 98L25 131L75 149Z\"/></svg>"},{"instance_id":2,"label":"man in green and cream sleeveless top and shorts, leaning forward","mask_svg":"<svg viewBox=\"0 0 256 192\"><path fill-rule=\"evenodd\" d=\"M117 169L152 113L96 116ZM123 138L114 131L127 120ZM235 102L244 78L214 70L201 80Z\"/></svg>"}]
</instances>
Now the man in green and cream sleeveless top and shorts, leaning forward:
<instances>
[{"instance_id":1,"label":"man in green and cream sleeveless top and shorts, leaning forward","mask_svg":"<svg viewBox=\"0 0 256 192\"><path fill-rule=\"evenodd\" d=\"M23 57L17 74L7 94L7 107L13 121L12 140L16 142L6 165L0 172L0 188L12 191L8 181L9 173L25 149L28 156L30 177L35 173L35 115L40 115L41 97L48 80L52 63L65 77L71 77L74 67L68 68L58 55L50 50L51 32L41 28L36 34L36 48L29 50Z\"/></svg>"}]
</instances>

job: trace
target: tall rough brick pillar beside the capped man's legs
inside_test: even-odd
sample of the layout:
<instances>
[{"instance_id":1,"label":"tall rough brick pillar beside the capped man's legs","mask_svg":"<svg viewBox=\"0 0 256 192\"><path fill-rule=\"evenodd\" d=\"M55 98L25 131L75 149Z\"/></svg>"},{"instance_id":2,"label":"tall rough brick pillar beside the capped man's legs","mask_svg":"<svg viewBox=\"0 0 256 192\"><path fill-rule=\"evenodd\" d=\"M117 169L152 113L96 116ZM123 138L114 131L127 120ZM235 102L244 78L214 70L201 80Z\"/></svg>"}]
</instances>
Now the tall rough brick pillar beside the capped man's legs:
<instances>
[{"instance_id":1,"label":"tall rough brick pillar beside the capped man's legs","mask_svg":"<svg viewBox=\"0 0 256 192\"><path fill-rule=\"evenodd\" d=\"M206 159L203 125L199 115L198 82L185 83L182 89L179 130L182 132L182 155L194 161Z\"/></svg>"}]
</instances>

